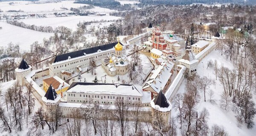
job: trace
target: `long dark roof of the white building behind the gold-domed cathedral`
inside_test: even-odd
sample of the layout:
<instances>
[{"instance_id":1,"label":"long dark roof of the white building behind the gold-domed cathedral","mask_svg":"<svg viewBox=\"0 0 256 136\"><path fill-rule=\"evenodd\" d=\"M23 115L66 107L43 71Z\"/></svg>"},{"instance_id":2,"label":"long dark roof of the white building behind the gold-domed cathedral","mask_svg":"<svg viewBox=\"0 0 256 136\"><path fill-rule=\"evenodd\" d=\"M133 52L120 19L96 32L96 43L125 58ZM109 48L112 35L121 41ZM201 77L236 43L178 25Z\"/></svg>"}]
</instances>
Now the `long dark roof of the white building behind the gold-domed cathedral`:
<instances>
[{"instance_id":1,"label":"long dark roof of the white building behind the gold-domed cathedral","mask_svg":"<svg viewBox=\"0 0 256 136\"><path fill-rule=\"evenodd\" d=\"M96 46L96 47L92 47L92 48L86 48L86 49L82 49L79 51L73 51L73 52L69 52L66 54L61 54L61 55L57 55L55 56L49 63L55 63L55 62L60 62L63 60L67 60L69 57L70 58L76 58L76 57L81 57L84 56L86 54L93 54L96 53L97 51L101 50L101 51L105 51L111 48L114 48L114 46L117 44L118 42L113 42L113 43L109 43L109 44L105 44L105 45L100 45L100 46ZM123 45L121 42L119 42L121 45Z\"/></svg>"}]
</instances>

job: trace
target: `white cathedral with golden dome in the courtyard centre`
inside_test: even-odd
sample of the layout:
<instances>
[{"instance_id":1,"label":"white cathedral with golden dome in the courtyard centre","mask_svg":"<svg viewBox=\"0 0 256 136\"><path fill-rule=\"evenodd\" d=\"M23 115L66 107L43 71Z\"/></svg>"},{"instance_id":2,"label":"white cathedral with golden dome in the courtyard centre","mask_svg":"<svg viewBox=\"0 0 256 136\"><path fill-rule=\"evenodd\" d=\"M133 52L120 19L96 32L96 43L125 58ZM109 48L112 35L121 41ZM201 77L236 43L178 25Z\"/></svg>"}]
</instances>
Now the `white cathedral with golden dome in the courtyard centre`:
<instances>
[{"instance_id":1,"label":"white cathedral with golden dome in the courtyard centre","mask_svg":"<svg viewBox=\"0 0 256 136\"><path fill-rule=\"evenodd\" d=\"M123 46L120 44L118 39L118 43L115 45L115 54L102 59L102 68L111 77L116 75L125 75L128 72L129 60L126 55L123 55L122 48Z\"/></svg>"}]
</instances>

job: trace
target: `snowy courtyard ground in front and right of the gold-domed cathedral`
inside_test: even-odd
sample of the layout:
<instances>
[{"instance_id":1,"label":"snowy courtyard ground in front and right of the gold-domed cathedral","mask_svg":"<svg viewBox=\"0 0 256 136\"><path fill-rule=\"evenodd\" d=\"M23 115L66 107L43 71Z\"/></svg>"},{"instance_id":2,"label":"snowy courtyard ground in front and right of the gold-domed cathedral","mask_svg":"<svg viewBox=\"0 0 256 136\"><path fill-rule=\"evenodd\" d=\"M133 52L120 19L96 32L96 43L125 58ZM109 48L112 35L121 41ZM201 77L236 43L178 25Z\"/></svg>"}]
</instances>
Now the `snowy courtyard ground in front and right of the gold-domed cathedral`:
<instances>
[{"instance_id":1,"label":"snowy courtyard ground in front and right of the gold-domed cathedral","mask_svg":"<svg viewBox=\"0 0 256 136\"><path fill-rule=\"evenodd\" d=\"M140 55L141 59L142 59L142 64L143 64L143 72L140 74L140 76L142 77L142 79L145 77L145 75L151 71L152 69L152 64L150 62L150 60L143 54ZM129 60L131 60L131 56L128 57ZM118 75L116 75L115 77L110 77L108 76L108 74L105 72L105 70L102 68L102 66L98 66L96 68L96 75L92 75L89 71L89 73L84 73L81 74L81 82L84 82L84 78L86 79L86 82L93 82L93 80L95 79L95 76L97 76L98 79L98 83L102 83L105 81L105 75L106 76L106 83L118 83L118 84L123 84L122 80L125 81L125 84L140 84L140 83L133 83L132 81L130 81L129 79L129 75L125 74L125 75L119 75L120 80L118 81ZM74 80L73 80L74 79ZM77 77L74 77L73 79L70 80L69 84L71 85L72 82L80 82L80 79L77 79ZM142 80L140 80L142 81ZM142 82L141 82L142 83Z\"/></svg>"}]
</instances>

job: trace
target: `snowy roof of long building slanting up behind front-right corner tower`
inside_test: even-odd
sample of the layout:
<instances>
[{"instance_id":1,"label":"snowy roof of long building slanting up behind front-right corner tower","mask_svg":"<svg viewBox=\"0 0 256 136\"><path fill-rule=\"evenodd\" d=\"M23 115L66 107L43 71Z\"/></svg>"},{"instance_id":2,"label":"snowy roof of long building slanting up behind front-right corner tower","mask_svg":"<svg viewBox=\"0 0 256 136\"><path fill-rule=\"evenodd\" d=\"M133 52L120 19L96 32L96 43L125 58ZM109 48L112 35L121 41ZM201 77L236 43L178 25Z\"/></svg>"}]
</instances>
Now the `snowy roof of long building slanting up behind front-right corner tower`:
<instances>
[{"instance_id":1,"label":"snowy roof of long building slanting up behind front-right corner tower","mask_svg":"<svg viewBox=\"0 0 256 136\"><path fill-rule=\"evenodd\" d=\"M161 88L165 87L169 78L172 76L171 70L173 67L174 63L170 61L162 62L156 70L152 71L153 74L149 78L148 82L146 82L143 89L146 90L146 88L151 87L156 91L156 93L159 93Z\"/></svg>"}]
</instances>

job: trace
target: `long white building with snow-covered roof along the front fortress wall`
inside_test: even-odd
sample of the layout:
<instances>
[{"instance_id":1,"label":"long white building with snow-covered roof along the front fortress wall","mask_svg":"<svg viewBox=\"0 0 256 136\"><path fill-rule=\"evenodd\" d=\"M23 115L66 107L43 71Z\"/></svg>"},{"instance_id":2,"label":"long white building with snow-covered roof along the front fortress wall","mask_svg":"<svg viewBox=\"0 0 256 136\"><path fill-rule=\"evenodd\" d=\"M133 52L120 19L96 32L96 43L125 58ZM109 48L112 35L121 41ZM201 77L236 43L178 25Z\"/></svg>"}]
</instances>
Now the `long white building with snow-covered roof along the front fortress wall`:
<instances>
[{"instance_id":1,"label":"long white building with snow-covered roof along the front fortress wall","mask_svg":"<svg viewBox=\"0 0 256 136\"><path fill-rule=\"evenodd\" d=\"M84 103L92 100L100 104L113 105L116 99L141 102L150 106L151 93L142 91L140 85L103 84L90 82L73 82L67 89L68 103Z\"/></svg>"}]
</instances>

